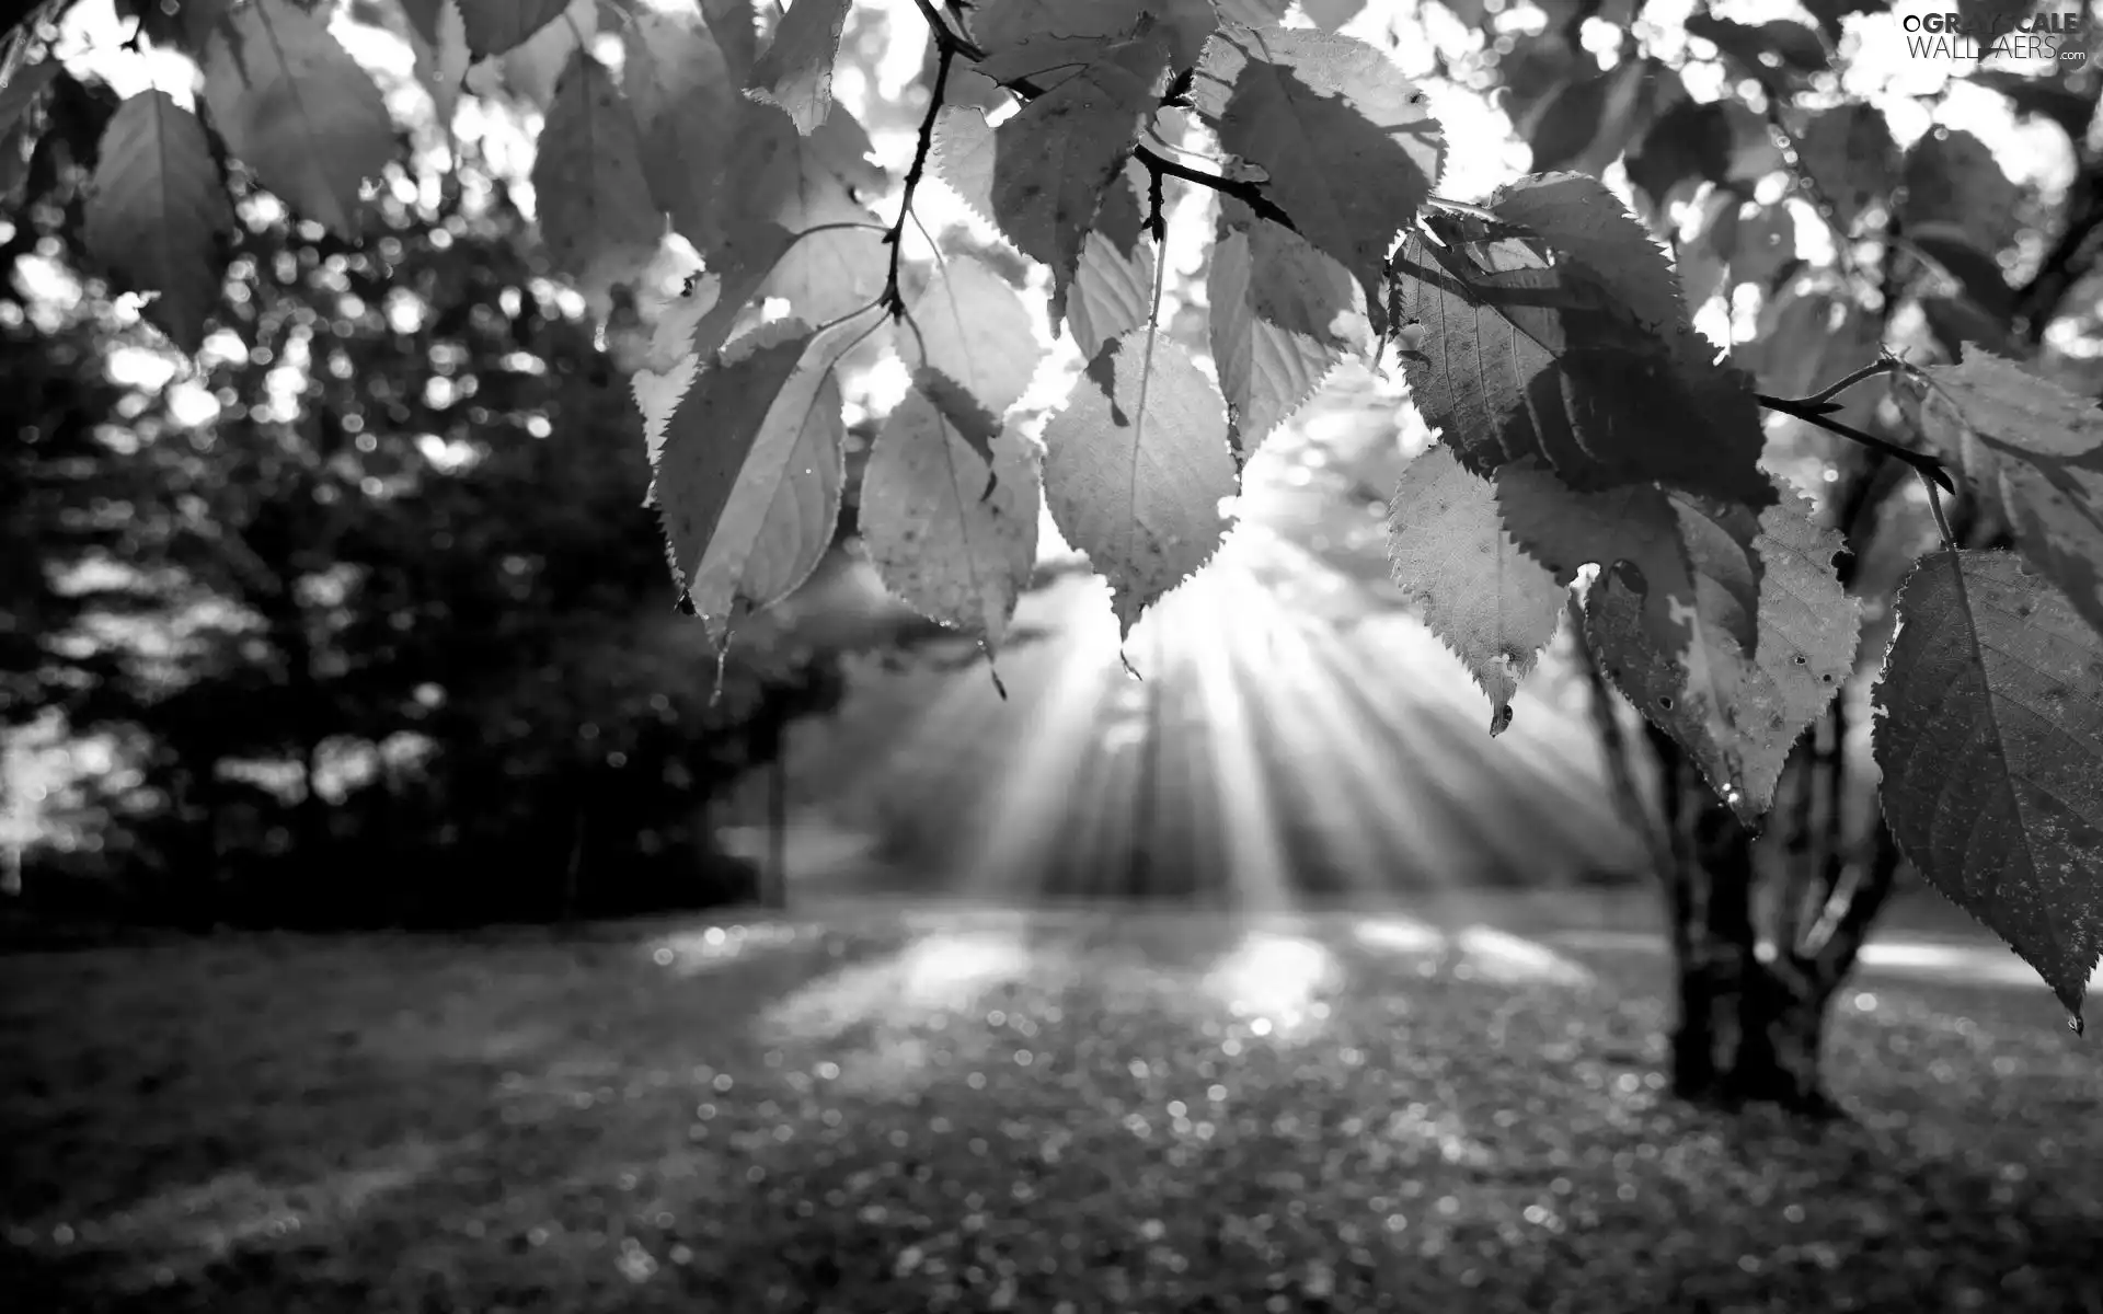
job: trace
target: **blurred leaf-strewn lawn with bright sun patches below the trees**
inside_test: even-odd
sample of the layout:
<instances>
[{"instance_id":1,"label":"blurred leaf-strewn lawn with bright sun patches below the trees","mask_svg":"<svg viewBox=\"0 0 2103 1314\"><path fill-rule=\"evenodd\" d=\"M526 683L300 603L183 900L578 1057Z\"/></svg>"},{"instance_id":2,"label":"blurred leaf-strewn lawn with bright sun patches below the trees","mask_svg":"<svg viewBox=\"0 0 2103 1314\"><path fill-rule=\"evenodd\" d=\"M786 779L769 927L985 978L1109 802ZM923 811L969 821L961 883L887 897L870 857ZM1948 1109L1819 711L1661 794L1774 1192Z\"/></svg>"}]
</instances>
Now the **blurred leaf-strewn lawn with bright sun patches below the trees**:
<instances>
[{"instance_id":1,"label":"blurred leaf-strewn lawn with bright sun patches below the trees","mask_svg":"<svg viewBox=\"0 0 2103 1314\"><path fill-rule=\"evenodd\" d=\"M2042 986L1870 973L1857 1123L1727 1118L1661 1093L1663 959L1527 908L15 954L0 1303L2103 1310Z\"/></svg>"}]
</instances>

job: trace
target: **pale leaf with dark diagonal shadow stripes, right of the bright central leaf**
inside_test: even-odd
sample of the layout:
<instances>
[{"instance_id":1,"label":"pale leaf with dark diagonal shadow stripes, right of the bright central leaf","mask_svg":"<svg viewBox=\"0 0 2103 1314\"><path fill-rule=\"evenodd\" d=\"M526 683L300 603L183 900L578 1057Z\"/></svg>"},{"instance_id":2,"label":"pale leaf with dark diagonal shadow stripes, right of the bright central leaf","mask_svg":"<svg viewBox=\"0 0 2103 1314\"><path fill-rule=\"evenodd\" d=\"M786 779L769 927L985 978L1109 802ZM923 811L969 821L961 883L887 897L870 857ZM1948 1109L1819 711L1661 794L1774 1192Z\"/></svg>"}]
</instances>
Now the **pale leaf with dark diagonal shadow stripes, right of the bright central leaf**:
<instances>
[{"instance_id":1,"label":"pale leaf with dark diagonal shadow stripes, right of the bright central leaf","mask_svg":"<svg viewBox=\"0 0 2103 1314\"><path fill-rule=\"evenodd\" d=\"M1247 460L1365 332L1365 309L1342 265L1234 198L1220 200L1205 286L1226 437Z\"/></svg>"}]
</instances>

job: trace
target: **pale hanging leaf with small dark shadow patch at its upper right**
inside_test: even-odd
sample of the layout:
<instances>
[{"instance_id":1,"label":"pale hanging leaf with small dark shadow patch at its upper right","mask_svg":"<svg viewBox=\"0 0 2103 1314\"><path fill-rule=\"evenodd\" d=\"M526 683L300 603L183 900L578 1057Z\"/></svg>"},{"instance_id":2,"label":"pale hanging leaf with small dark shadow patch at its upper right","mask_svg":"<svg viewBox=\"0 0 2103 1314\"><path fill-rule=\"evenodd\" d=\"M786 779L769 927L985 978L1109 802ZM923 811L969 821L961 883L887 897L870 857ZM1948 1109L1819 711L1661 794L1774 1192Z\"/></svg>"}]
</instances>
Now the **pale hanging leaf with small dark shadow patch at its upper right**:
<instances>
[{"instance_id":1,"label":"pale hanging leaf with small dark shadow patch at its upper right","mask_svg":"<svg viewBox=\"0 0 2103 1314\"><path fill-rule=\"evenodd\" d=\"M1037 471L1016 435L988 463L934 402L906 393L869 452L858 515L885 589L999 648L1037 563Z\"/></svg>"}]
</instances>

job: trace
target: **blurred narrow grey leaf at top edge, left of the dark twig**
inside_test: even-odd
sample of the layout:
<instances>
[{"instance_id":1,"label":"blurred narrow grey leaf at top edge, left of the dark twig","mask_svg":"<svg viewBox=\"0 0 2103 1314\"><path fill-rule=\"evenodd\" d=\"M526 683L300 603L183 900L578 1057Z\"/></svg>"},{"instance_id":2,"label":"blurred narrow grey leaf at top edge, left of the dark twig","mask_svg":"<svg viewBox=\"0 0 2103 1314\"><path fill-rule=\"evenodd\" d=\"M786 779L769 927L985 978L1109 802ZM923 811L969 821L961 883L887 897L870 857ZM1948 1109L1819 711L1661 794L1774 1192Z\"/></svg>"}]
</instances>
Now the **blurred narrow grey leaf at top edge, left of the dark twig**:
<instances>
[{"instance_id":1,"label":"blurred narrow grey leaf at top edge, left of the dark twig","mask_svg":"<svg viewBox=\"0 0 2103 1314\"><path fill-rule=\"evenodd\" d=\"M717 250L717 196L742 118L721 46L694 13L637 13L625 34L620 88L654 206L696 250Z\"/></svg>"}]
</instances>

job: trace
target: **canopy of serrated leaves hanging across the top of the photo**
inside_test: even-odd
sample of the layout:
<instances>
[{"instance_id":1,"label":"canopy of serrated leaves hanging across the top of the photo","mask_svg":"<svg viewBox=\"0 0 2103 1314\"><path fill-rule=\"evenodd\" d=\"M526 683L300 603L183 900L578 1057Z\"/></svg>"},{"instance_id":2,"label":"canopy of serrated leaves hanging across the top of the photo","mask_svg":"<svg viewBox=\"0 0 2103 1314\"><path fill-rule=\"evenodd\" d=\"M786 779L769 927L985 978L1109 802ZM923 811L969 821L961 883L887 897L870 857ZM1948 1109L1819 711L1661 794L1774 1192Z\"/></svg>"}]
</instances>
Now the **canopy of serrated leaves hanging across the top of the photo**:
<instances>
[{"instance_id":1,"label":"canopy of serrated leaves hanging across the top of the photo","mask_svg":"<svg viewBox=\"0 0 2103 1314\"><path fill-rule=\"evenodd\" d=\"M1691 59L1758 86L1760 111L1697 99L1638 46L1630 6L1546 4L1548 27L1497 59L1535 170L1474 202L1436 193L1451 145L1428 90L1338 32L1356 4L921 6L932 78L902 179L835 99L850 0L362 8L406 36L440 124L467 95L540 116L540 233L587 294L637 280L667 233L700 254L633 389L677 595L717 639L814 572L850 498L883 582L988 652L1045 511L1129 633L1213 559L1266 437L1344 360L1398 362L1436 444L1392 492L1392 582L1487 694L1489 732L1581 589L1590 652L1748 824L1863 658L1840 570L1859 545L1777 475L1762 410L1851 433L1846 402L1800 393L1874 364L1888 324L1796 248L1790 204L1840 259L1882 233L1886 284L1922 288L1952 362L1891 364L1939 460L1897 448L1996 507L2015 547L1952 542L1897 595L1876 687L1884 812L1914 864L2078 1009L2103 948L2103 418L2017 360L2006 326L2057 303L2004 280L2019 191L1992 151L1945 128L1901 151L1867 105L1798 111L1838 13L1876 0L1813 6L1817 25L1695 15ZM397 132L328 0L120 11L196 63L202 95L116 107L80 223L196 351L223 294L227 168L353 240ZM1624 34L1611 67L1577 40L1594 21ZM8 69L8 151L57 76L48 59ZM2069 78L1979 84L2080 141L2069 99L2088 88ZM1207 156L1171 145L1186 128ZM1596 177L1615 160L1634 208ZM1760 189L1775 172L1790 200ZM908 261L932 179L1012 254ZM1203 334L1163 315L1167 202L1188 187L1213 202ZM1657 233L1680 204L1697 238L1674 259ZM1020 410L1047 357L1012 278L1024 263L1081 364L1041 431ZM1697 313L1745 286L1760 334L1720 351ZM911 387L850 467L839 362L883 324Z\"/></svg>"}]
</instances>

